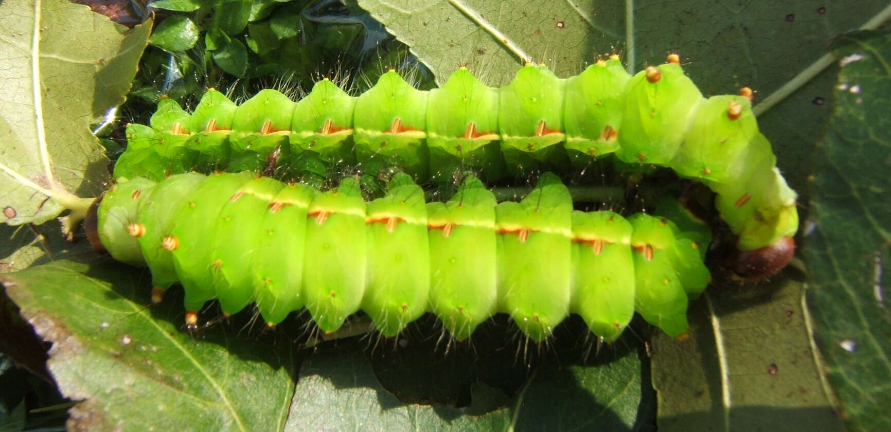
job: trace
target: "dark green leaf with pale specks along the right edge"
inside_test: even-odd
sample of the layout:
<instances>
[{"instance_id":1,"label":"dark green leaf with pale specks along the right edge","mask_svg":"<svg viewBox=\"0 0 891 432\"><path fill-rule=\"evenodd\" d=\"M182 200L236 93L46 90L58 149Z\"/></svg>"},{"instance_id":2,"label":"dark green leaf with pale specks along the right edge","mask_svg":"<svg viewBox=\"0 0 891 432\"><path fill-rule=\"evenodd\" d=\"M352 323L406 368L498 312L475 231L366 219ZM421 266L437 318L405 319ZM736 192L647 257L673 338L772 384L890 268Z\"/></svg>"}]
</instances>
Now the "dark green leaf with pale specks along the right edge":
<instances>
[{"instance_id":1,"label":"dark green leaf with pale specks along the right edge","mask_svg":"<svg viewBox=\"0 0 891 432\"><path fill-rule=\"evenodd\" d=\"M852 430L891 429L891 34L834 46L841 72L817 148L805 257L814 338Z\"/></svg>"}]
</instances>

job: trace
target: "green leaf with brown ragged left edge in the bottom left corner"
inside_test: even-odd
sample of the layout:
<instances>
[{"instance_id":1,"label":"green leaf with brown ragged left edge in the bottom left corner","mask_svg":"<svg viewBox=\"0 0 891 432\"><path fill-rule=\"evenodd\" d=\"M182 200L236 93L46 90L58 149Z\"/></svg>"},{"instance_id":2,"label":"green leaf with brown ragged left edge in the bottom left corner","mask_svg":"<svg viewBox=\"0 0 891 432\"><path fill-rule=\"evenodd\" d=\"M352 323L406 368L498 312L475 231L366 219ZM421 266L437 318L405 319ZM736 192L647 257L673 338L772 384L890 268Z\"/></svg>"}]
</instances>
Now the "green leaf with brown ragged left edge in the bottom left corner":
<instances>
[{"instance_id":1,"label":"green leaf with brown ragged left edge in the bottom left corner","mask_svg":"<svg viewBox=\"0 0 891 432\"><path fill-rule=\"evenodd\" d=\"M193 339L157 317L172 311L144 306L144 287L136 292L132 269L121 265L57 261L0 282L53 342L49 368L62 394L84 401L69 428L282 428L294 389L292 344L238 338L229 326Z\"/></svg>"}]
</instances>

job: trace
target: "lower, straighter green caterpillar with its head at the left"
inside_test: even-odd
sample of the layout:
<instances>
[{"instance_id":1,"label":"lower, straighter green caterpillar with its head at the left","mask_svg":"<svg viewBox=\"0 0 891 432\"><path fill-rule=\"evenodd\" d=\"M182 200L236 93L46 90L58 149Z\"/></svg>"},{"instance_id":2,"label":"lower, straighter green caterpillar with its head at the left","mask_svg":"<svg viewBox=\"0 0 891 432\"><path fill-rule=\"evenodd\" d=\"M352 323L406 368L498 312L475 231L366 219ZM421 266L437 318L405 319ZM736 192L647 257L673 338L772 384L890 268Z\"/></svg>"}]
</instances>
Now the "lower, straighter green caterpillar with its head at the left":
<instances>
[{"instance_id":1,"label":"lower, straighter green caterpillar with its head at the left","mask_svg":"<svg viewBox=\"0 0 891 432\"><path fill-rule=\"evenodd\" d=\"M429 203L405 173L369 202L355 177L327 192L249 172L135 177L94 211L102 247L151 269L153 301L183 285L192 327L218 298L225 314L255 302L270 325L305 307L326 332L361 309L393 336L432 312L462 340L501 312L541 341L579 314L612 341L636 310L682 336L688 299L710 280L707 225L573 210L551 173L522 201L497 204L473 176Z\"/></svg>"}]
</instances>

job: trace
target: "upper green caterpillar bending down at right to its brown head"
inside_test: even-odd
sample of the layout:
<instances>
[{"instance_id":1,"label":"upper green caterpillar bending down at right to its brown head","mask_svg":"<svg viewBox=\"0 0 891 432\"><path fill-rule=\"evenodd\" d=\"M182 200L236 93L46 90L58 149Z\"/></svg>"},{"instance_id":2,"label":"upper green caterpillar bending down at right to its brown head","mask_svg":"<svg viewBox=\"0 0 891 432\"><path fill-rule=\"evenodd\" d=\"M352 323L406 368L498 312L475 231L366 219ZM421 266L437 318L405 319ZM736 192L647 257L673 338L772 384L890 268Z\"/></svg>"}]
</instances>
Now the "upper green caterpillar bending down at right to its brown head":
<instances>
[{"instance_id":1,"label":"upper green caterpillar bending down at right to its brown head","mask_svg":"<svg viewBox=\"0 0 891 432\"><path fill-rule=\"evenodd\" d=\"M263 90L238 106L209 90L192 114L161 101L151 126L128 126L114 174L159 181L195 169L259 172L274 157L298 173L292 178L356 163L372 174L398 167L419 182L465 169L490 181L616 153L707 184L738 236L732 270L758 279L791 259L798 216L750 98L748 89L703 97L675 54L634 77L617 56L568 79L527 64L500 88L458 69L429 92L394 71L357 97L328 80L299 102Z\"/></svg>"}]
</instances>

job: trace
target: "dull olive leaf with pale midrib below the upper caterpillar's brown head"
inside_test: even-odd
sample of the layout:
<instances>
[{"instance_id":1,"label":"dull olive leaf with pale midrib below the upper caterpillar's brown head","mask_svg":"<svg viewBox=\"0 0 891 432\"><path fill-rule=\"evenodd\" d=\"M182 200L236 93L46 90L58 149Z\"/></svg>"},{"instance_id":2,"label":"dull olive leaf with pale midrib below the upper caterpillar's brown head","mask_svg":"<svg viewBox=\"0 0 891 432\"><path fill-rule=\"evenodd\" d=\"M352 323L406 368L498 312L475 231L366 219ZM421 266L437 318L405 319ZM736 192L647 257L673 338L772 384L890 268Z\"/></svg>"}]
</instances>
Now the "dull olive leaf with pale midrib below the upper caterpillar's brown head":
<instances>
[{"instance_id":1,"label":"dull olive leaf with pale midrib below the upper caterpillar's brown head","mask_svg":"<svg viewBox=\"0 0 891 432\"><path fill-rule=\"evenodd\" d=\"M710 287L691 305L690 338L658 334L658 430L844 430L814 361L804 294L797 278Z\"/></svg>"}]
</instances>

